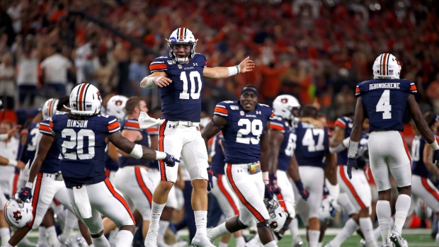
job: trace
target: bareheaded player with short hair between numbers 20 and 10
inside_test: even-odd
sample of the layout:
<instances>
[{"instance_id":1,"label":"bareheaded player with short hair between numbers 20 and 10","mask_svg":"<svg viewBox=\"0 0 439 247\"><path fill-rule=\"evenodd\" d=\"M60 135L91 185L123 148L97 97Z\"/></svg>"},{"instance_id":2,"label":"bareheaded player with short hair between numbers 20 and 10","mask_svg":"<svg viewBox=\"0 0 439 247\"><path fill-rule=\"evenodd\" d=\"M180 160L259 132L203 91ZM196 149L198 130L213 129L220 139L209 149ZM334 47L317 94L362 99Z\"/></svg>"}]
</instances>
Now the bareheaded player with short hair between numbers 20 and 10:
<instances>
[{"instance_id":1,"label":"bareheaded player with short hair between numbers 20 and 10","mask_svg":"<svg viewBox=\"0 0 439 247\"><path fill-rule=\"evenodd\" d=\"M108 106L108 105L107 105ZM120 122L122 137L127 138L135 144L149 147L149 136L147 130L140 130L138 118L140 112L148 112L147 103L138 97L131 97L125 104L127 119ZM115 175L115 188L118 189L130 209L137 209L142 215L142 234L147 236L149 219L151 217L152 191L154 184L147 177L149 161L135 159L130 154L118 150L119 170Z\"/></svg>"}]
</instances>

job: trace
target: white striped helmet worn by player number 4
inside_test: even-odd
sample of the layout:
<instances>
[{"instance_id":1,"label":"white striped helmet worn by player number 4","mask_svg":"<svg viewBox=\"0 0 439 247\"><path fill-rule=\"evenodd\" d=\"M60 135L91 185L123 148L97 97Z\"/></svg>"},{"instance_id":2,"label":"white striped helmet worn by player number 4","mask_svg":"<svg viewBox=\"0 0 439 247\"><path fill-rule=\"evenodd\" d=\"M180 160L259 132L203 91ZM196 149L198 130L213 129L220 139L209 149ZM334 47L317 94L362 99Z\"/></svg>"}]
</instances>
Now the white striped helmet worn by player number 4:
<instances>
[{"instance_id":1,"label":"white striped helmet worn by player number 4","mask_svg":"<svg viewBox=\"0 0 439 247\"><path fill-rule=\"evenodd\" d=\"M390 53L383 53L375 59L372 66L373 79L399 79L401 64Z\"/></svg>"}]
</instances>

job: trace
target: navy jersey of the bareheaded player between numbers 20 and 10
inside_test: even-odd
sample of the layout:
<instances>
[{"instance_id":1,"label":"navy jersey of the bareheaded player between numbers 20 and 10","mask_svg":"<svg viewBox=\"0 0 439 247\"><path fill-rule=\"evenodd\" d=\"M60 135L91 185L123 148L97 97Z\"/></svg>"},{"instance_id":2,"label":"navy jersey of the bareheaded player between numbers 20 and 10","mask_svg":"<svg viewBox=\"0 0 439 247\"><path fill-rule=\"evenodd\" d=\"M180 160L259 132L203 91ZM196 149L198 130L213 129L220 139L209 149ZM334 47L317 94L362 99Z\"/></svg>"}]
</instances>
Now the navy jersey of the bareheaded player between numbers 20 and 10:
<instances>
[{"instance_id":1,"label":"navy jersey of the bareheaded player between numbers 20 and 10","mask_svg":"<svg viewBox=\"0 0 439 247\"><path fill-rule=\"evenodd\" d=\"M122 130L135 130L142 134L142 139L135 142L135 144L140 144L144 147L149 147L149 135L147 130L141 130L139 125L139 120L135 118L130 118L128 120L123 120L120 122L120 131ZM132 156L119 156L119 166L120 168L125 166L148 166L149 161L144 161L141 159L135 159Z\"/></svg>"}]
</instances>

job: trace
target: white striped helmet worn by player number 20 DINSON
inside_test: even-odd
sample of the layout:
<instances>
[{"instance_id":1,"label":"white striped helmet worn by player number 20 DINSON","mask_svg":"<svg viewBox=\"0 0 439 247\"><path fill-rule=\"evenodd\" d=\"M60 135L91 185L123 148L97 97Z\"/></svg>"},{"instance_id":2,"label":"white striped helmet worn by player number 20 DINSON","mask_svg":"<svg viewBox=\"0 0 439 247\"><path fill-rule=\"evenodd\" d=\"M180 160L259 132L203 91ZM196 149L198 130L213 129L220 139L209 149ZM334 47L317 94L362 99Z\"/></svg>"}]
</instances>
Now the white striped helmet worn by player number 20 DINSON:
<instances>
[{"instance_id":1,"label":"white striped helmet worn by player number 20 DINSON","mask_svg":"<svg viewBox=\"0 0 439 247\"><path fill-rule=\"evenodd\" d=\"M73 115L91 116L101 113L102 98L98 88L91 84L79 84L70 93L70 108Z\"/></svg>"}]
</instances>

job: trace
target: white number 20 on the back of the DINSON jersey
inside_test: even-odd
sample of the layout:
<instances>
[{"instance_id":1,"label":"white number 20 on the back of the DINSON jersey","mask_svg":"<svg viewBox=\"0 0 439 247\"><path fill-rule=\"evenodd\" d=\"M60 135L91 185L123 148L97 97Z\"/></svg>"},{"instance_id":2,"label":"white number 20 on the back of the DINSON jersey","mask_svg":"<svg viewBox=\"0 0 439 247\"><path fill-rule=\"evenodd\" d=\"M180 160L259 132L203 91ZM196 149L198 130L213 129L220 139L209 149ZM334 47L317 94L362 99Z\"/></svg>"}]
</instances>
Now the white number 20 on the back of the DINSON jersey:
<instances>
[{"instance_id":1,"label":"white number 20 on the back of the DINSON jersey","mask_svg":"<svg viewBox=\"0 0 439 247\"><path fill-rule=\"evenodd\" d=\"M76 133L73 129L64 129L61 132L62 138L62 155L64 159L92 159L94 157L94 132L93 130L81 129ZM67 137L70 137L67 140ZM89 139L89 144L86 145L87 152L84 152L84 137ZM67 151L67 149L69 149ZM75 151L76 150L76 151Z\"/></svg>"}]
</instances>

